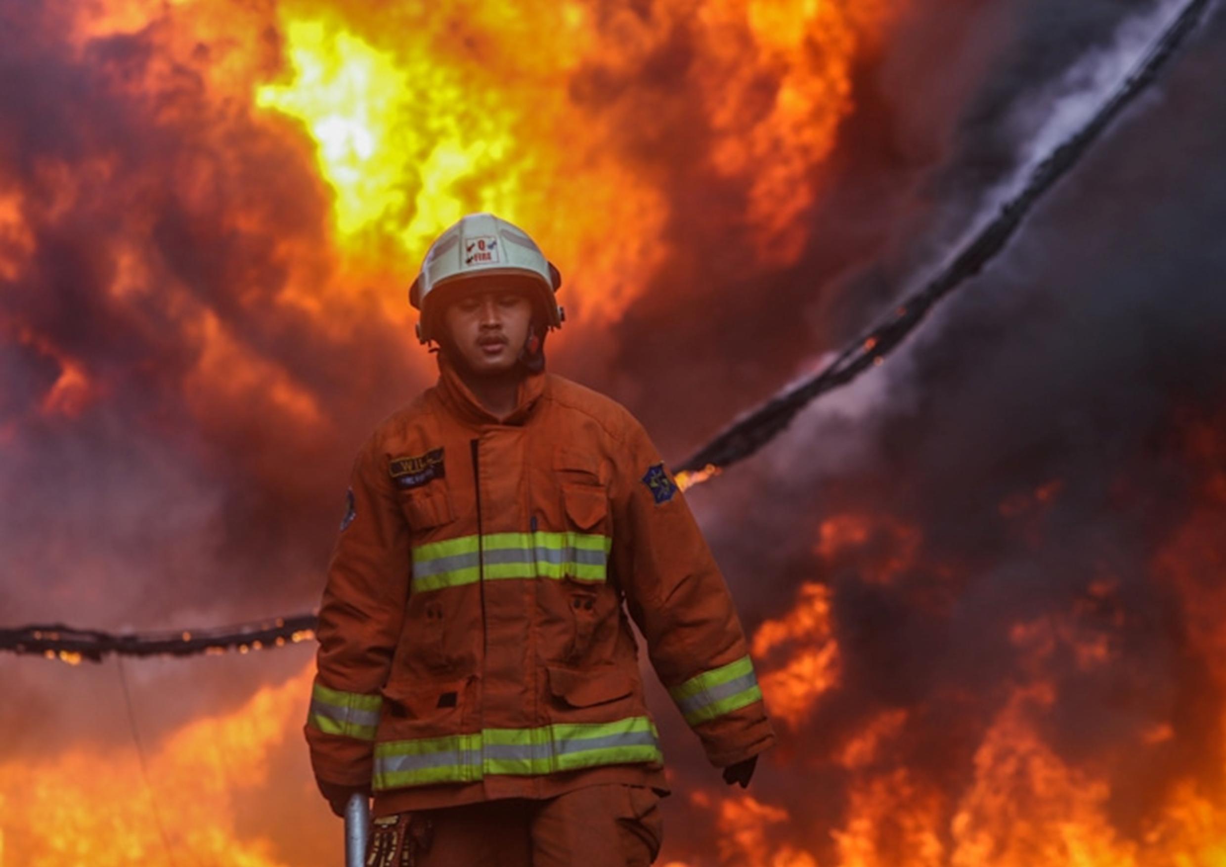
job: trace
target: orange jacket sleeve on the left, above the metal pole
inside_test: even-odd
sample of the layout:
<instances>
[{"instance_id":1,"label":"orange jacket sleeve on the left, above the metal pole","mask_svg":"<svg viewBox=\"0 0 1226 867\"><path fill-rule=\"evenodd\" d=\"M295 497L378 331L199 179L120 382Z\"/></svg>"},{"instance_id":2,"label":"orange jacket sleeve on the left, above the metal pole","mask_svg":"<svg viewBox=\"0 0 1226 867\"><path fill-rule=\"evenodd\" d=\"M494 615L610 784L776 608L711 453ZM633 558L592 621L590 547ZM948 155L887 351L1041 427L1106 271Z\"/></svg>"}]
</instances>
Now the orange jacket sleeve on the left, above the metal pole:
<instances>
[{"instance_id":1,"label":"orange jacket sleeve on the left, above the metal pole","mask_svg":"<svg viewBox=\"0 0 1226 867\"><path fill-rule=\"evenodd\" d=\"M320 603L306 717L315 777L370 786L375 730L408 595L408 526L374 437L353 462Z\"/></svg>"}]
</instances>

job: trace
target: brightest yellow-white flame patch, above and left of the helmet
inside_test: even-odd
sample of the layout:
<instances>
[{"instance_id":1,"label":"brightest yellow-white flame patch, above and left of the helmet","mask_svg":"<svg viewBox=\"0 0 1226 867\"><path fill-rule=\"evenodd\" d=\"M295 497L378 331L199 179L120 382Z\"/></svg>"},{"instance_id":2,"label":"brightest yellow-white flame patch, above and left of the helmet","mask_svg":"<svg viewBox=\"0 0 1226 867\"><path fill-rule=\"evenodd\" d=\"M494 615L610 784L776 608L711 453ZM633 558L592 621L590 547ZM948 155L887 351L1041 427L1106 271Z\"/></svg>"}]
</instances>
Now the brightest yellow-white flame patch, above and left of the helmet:
<instances>
[{"instance_id":1,"label":"brightest yellow-white flame patch, above and left of the helmet","mask_svg":"<svg viewBox=\"0 0 1226 867\"><path fill-rule=\"evenodd\" d=\"M397 59L324 21L289 21L292 80L256 91L256 104L300 118L319 143L335 191L336 227L395 235L423 248L463 216L461 181L494 169L510 151L510 112L472 93L446 67ZM478 207L492 208L495 188Z\"/></svg>"}]
</instances>

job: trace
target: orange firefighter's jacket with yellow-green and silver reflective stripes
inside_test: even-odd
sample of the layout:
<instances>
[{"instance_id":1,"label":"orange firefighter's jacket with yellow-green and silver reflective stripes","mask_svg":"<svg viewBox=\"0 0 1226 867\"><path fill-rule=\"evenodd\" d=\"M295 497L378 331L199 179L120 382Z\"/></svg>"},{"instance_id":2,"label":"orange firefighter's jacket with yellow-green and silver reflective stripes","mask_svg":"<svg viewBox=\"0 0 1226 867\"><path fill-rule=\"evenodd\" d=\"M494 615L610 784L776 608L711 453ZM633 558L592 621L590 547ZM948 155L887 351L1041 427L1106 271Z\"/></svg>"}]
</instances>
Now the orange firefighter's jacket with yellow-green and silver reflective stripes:
<instances>
[{"instance_id":1,"label":"orange firefighter's jacket with yellow-green and silver reflective stripes","mask_svg":"<svg viewBox=\"0 0 1226 867\"><path fill-rule=\"evenodd\" d=\"M305 726L375 815L595 782L666 790L651 663L716 766L775 741L718 567L642 426L541 372L492 416L439 381L353 464Z\"/></svg>"}]
</instances>

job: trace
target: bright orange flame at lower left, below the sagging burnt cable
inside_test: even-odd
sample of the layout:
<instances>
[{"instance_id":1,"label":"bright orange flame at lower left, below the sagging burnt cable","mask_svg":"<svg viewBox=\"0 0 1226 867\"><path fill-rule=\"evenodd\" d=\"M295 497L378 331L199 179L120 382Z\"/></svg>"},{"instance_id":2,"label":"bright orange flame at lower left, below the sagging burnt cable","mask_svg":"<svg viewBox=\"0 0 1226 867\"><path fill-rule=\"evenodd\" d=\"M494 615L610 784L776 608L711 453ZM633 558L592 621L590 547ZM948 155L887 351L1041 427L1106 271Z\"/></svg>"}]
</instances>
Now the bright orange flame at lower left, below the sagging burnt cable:
<instances>
[{"instance_id":1,"label":"bright orange flame at lower left, below the sagging burnt cable","mask_svg":"<svg viewBox=\"0 0 1226 867\"><path fill-rule=\"evenodd\" d=\"M302 752L311 676L308 666L229 712L201 715L147 746L143 760L130 743L83 742L0 764L0 863L291 867L308 841L326 845L335 836L327 849L340 850L338 822L299 830L295 842L288 836L294 825L272 806L318 806L314 792L304 797L305 759L284 760L287 751ZM295 779L272 776L287 768ZM253 808L255 822L243 814ZM316 820L326 814L316 812ZM313 863L327 863L326 854Z\"/></svg>"}]
</instances>

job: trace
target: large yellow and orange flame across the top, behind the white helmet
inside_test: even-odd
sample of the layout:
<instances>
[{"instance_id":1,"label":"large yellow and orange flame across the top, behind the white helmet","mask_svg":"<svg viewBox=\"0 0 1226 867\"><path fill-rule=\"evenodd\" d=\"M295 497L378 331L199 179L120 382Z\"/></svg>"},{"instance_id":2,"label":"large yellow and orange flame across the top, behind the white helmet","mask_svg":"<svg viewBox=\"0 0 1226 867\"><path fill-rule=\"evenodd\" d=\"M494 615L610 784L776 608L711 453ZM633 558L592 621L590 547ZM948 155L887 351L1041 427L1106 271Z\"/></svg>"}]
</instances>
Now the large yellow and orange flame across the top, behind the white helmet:
<instances>
[{"instance_id":1,"label":"large yellow and orange flame across the top, behind the white helmet","mask_svg":"<svg viewBox=\"0 0 1226 867\"><path fill-rule=\"evenodd\" d=\"M347 273L406 280L443 228L492 210L538 237L577 289L573 304L609 316L674 253L671 172L744 186L756 251L747 265L796 259L805 240L797 217L852 105L852 65L889 11L742 0L645 11L470 1L445 15L282 2L270 13L226 0L129 0L83 6L78 39L153 28L167 61L196 70L218 99L248 101L268 124L297 121L281 126L314 150ZM592 92L595 81L629 86L679 33L693 56L669 86L696 99L687 114L711 136L696 167L631 147L639 128L678 113L666 94L657 120Z\"/></svg>"}]
</instances>

